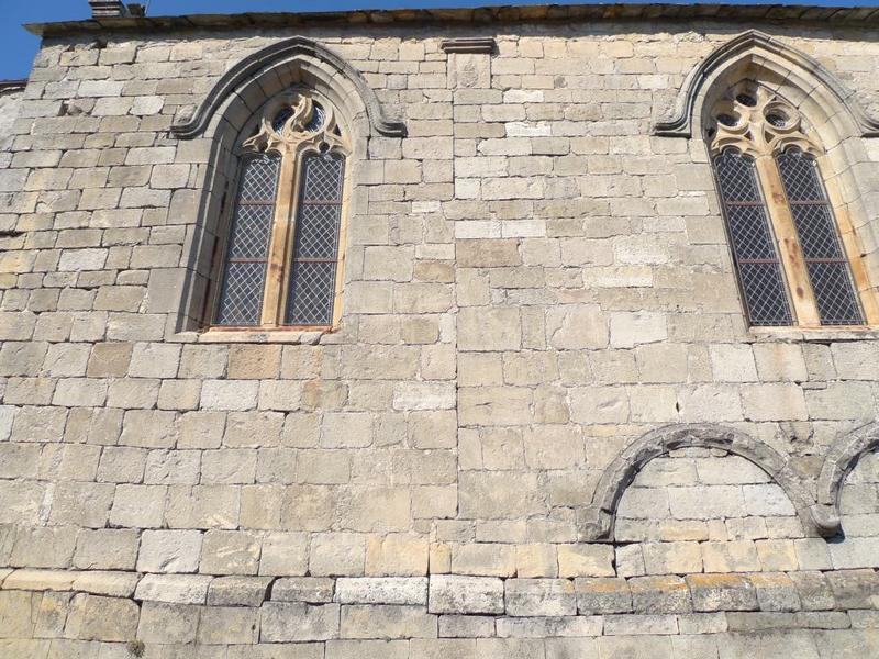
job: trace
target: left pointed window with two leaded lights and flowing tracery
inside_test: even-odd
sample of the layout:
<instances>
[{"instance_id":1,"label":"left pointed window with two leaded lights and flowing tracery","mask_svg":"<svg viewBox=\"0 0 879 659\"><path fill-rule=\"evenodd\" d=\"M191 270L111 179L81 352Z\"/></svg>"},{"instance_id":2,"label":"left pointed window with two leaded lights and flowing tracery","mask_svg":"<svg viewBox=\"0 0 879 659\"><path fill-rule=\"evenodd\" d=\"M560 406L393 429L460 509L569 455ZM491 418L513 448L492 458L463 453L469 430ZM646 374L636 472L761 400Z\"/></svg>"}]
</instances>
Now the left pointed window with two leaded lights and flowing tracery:
<instances>
[{"instance_id":1,"label":"left pointed window with two leaded lights and flowing tracery","mask_svg":"<svg viewBox=\"0 0 879 659\"><path fill-rule=\"evenodd\" d=\"M214 325L331 327L341 313L347 143L331 105L308 93L274 100L251 126Z\"/></svg>"}]
</instances>

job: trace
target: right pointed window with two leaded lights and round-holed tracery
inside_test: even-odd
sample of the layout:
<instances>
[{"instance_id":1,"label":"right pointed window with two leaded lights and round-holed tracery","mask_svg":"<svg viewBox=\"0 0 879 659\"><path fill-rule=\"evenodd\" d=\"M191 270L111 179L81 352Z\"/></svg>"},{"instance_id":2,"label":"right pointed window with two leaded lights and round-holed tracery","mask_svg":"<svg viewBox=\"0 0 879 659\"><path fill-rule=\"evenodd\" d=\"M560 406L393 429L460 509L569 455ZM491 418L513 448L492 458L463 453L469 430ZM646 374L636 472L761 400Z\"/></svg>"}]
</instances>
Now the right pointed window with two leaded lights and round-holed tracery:
<instances>
[{"instance_id":1,"label":"right pointed window with two leaded lights and round-holed tracery","mask_svg":"<svg viewBox=\"0 0 879 659\"><path fill-rule=\"evenodd\" d=\"M706 136L749 323L875 324L854 232L834 213L808 120L745 80L714 103Z\"/></svg>"}]
</instances>

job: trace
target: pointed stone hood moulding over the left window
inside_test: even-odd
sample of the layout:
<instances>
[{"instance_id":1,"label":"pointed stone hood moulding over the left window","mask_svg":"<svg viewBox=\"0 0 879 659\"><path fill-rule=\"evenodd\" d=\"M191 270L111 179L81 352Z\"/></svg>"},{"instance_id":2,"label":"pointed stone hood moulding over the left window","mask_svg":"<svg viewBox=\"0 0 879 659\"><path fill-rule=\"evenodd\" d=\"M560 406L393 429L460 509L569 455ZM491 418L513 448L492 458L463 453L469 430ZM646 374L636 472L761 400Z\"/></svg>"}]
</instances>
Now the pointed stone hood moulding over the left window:
<instances>
[{"instance_id":1,"label":"pointed stone hood moulding over the left window","mask_svg":"<svg viewBox=\"0 0 879 659\"><path fill-rule=\"evenodd\" d=\"M301 71L303 77L313 76L326 85L326 89L319 87L318 91L338 102L340 110L347 112L349 116L358 110L359 100L377 134L387 137L405 136L405 124L386 115L376 92L360 71L330 48L303 36L272 44L242 59L220 78L188 121L171 126L171 133L181 139L192 139L203 134L211 118L232 96L237 96L245 107L255 111L256 108L252 107L253 99L281 91L291 68ZM272 74L277 74L277 77ZM340 87L336 76L341 76L351 88L344 94L333 93L333 89ZM352 98L351 92L357 99Z\"/></svg>"}]
</instances>

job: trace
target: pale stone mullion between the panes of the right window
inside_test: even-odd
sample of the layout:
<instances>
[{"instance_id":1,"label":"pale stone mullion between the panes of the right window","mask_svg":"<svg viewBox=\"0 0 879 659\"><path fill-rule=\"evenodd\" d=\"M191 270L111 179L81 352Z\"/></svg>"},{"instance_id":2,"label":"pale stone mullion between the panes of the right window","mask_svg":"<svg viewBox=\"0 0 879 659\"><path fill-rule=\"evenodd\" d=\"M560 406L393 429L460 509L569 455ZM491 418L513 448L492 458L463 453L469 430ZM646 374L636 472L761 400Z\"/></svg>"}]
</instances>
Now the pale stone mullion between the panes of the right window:
<instances>
[{"instance_id":1,"label":"pale stone mullion between the panes of the right window","mask_svg":"<svg viewBox=\"0 0 879 659\"><path fill-rule=\"evenodd\" d=\"M756 165L778 243L778 255L787 276L795 322L802 326L820 326L821 315L778 167L771 155L760 156Z\"/></svg>"}]
</instances>

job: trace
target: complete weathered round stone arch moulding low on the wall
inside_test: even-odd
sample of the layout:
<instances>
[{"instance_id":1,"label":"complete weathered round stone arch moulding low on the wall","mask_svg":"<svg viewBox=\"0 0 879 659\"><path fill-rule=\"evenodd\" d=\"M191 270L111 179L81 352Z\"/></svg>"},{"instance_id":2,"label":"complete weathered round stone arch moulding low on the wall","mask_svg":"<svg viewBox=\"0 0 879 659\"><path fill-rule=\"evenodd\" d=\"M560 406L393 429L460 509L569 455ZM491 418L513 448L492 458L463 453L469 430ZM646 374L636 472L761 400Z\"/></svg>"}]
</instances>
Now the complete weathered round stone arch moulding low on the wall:
<instances>
[{"instance_id":1,"label":"complete weathered round stone arch moulding low on the wall","mask_svg":"<svg viewBox=\"0 0 879 659\"><path fill-rule=\"evenodd\" d=\"M581 541L613 543L616 509L626 488L654 458L681 448L717 448L753 462L785 491L808 536L824 535L813 517L814 500L787 460L774 448L739 431L714 424L671 425L636 439L611 462L596 487L591 504L578 515Z\"/></svg>"}]
</instances>

